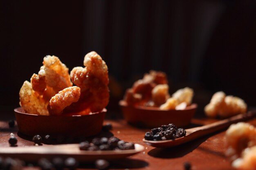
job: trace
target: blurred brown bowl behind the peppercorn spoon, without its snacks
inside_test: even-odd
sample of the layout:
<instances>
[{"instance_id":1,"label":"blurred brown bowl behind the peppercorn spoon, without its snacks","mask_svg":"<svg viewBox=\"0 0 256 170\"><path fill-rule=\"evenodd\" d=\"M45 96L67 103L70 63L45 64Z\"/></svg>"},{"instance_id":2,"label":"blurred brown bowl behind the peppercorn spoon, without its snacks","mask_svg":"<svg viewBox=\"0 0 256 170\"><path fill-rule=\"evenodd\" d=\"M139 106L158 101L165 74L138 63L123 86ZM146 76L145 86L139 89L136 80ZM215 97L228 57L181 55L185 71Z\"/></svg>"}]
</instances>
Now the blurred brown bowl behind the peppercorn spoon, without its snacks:
<instances>
[{"instance_id":1,"label":"blurred brown bowl behind the peppercorn spoon, without its snacks","mask_svg":"<svg viewBox=\"0 0 256 170\"><path fill-rule=\"evenodd\" d=\"M184 110L160 110L153 107L128 106L124 100L121 100L119 105L128 123L145 128L156 128L168 124L175 124L181 128L187 127L198 107L197 104L191 104Z\"/></svg>"}]
</instances>

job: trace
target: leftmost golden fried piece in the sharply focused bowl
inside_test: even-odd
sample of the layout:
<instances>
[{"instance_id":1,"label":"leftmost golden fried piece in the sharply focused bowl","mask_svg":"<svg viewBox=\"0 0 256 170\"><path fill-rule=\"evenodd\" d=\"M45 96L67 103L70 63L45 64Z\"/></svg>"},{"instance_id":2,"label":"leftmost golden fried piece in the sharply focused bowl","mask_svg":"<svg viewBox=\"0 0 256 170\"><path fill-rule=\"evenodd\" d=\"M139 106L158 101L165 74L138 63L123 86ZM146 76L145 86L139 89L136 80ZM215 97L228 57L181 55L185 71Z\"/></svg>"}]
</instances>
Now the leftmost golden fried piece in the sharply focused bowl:
<instances>
[{"instance_id":1,"label":"leftmost golden fried piece in the sharply focused bowl","mask_svg":"<svg viewBox=\"0 0 256 170\"><path fill-rule=\"evenodd\" d=\"M20 88L20 106L26 113L35 115L49 115L47 105L49 102L43 99L42 95L39 95L32 89L30 82L25 81Z\"/></svg>"}]
</instances>

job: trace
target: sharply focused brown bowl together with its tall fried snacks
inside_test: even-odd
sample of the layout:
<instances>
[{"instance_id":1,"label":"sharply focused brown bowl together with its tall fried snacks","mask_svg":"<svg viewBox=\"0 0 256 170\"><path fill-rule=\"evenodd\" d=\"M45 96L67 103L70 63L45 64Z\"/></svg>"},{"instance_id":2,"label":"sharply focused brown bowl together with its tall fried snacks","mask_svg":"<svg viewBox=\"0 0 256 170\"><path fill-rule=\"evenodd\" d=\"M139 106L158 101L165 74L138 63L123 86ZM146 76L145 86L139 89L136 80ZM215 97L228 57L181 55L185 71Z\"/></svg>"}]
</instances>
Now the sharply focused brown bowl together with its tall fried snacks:
<instances>
[{"instance_id":1,"label":"sharply focused brown bowl together with its tall fried snacks","mask_svg":"<svg viewBox=\"0 0 256 170\"><path fill-rule=\"evenodd\" d=\"M72 137L100 132L109 102L108 66L95 51L83 64L70 75L58 57L44 57L38 74L20 89L22 108L15 109L20 132Z\"/></svg>"}]
</instances>

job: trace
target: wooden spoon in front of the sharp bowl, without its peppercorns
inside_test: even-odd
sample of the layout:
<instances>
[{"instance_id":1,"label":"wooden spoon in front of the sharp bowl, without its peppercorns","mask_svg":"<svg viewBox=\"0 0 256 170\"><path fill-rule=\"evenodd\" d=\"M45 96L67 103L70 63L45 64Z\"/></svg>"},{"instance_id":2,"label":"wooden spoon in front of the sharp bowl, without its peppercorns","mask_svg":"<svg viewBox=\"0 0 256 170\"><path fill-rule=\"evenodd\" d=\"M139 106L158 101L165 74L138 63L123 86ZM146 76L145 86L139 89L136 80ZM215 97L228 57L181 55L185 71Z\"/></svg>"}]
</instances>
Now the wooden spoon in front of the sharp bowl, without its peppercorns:
<instances>
[{"instance_id":1,"label":"wooden spoon in front of the sharp bowl, without its peppercorns","mask_svg":"<svg viewBox=\"0 0 256 170\"><path fill-rule=\"evenodd\" d=\"M0 155L13 157L24 161L38 161L40 158L52 159L54 157L74 157L81 162L95 161L96 159L120 159L135 155L144 150L144 146L135 144L135 149L130 150L80 150L79 144L23 146L0 148Z\"/></svg>"}]
</instances>

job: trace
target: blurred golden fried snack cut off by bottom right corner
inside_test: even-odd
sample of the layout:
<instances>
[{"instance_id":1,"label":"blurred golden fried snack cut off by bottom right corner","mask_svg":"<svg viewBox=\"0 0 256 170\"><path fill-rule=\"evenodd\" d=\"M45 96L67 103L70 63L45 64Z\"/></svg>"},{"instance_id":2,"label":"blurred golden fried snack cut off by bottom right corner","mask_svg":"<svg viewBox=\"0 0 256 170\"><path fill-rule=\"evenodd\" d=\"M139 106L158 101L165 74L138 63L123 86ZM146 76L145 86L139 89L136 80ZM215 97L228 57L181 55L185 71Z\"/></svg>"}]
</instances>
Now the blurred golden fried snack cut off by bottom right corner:
<instances>
[{"instance_id":1,"label":"blurred golden fried snack cut off by bottom right corner","mask_svg":"<svg viewBox=\"0 0 256 170\"><path fill-rule=\"evenodd\" d=\"M233 161L232 166L238 170L256 170L256 146L243 150L242 156Z\"/></svg>"}]
</instances>

